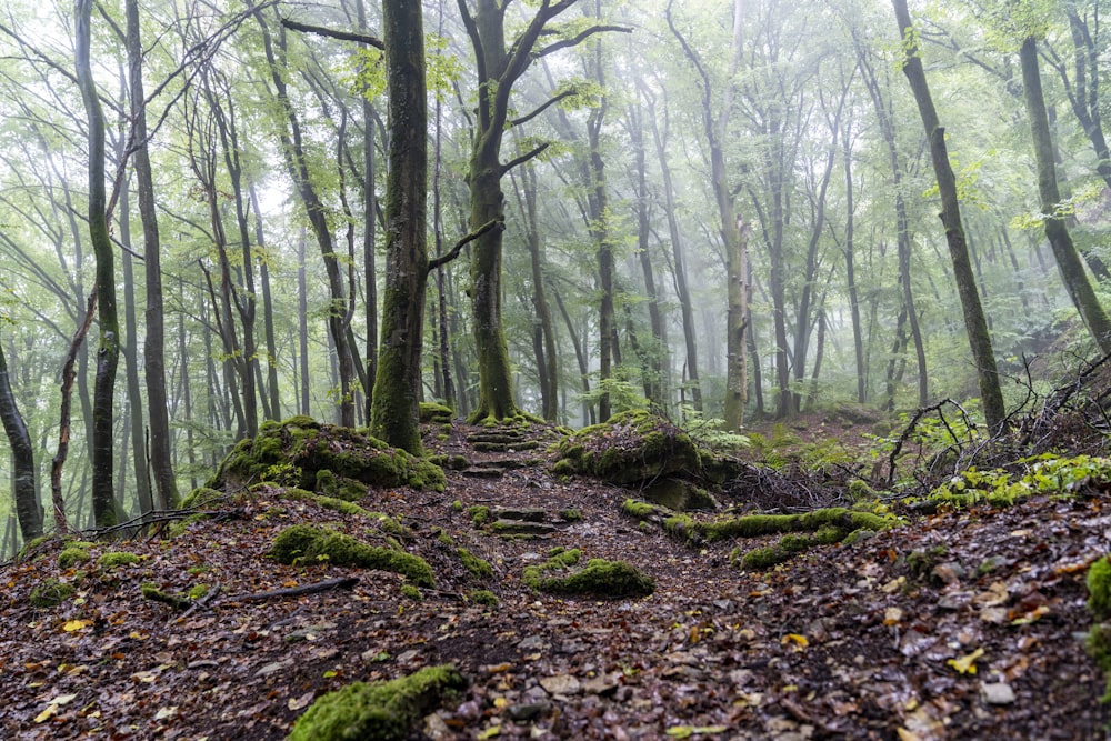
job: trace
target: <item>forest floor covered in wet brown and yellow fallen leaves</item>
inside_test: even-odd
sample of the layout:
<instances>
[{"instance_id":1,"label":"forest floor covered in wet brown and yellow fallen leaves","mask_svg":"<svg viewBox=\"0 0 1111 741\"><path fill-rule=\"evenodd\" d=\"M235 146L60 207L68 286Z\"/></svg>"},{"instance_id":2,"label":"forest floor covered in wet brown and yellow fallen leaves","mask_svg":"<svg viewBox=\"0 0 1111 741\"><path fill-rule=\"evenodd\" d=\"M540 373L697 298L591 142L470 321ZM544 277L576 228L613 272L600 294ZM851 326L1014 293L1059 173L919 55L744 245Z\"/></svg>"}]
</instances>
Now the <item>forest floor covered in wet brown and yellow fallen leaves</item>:
<instances>
[{"instance_id":1,"label":"forest floor covered in wet brown and yellow fallen leaves","mask_svg":"<svg viewBox=\"0 0 1111 741\"><path fill-rule=\"evenodd\" d=\"M0 738L279 739L324 692L447 662L469 689L412 738L1107 734L1104 681L1084 651L1084 571L1111 550L1107 492L915 517L755 573L730 565L735 543L692 550L638 527L620 511L635 492L552 477L543 444L481 453L470 431L456 423L447 440L427 438L470 460L448 472L446 492L372 490L360 502L411 528L406 550L437 577L419 600L402 595L392 573L268 558L290 524L364 530L267 488L173 539L98 544L90 562L69 569L58 565L57 543L8 564ZM541 509L554 528L504 540L473 525L476 504ZM467 571L443 534L488 560L493 577ZM523 568L554 547L628 561L655 591L597 600L528 589ZM142 560L108 570L97 565L106 550ZM911 552L932 561L909 562ZM348 575L358 577L349 589L251 597ZM74 583L76 595L30 607L32 588L49 578ZM183 614L144 599L143 582L219 591ZM499 604L476 603L476 589Z\"/></svg>"}]
</instances>

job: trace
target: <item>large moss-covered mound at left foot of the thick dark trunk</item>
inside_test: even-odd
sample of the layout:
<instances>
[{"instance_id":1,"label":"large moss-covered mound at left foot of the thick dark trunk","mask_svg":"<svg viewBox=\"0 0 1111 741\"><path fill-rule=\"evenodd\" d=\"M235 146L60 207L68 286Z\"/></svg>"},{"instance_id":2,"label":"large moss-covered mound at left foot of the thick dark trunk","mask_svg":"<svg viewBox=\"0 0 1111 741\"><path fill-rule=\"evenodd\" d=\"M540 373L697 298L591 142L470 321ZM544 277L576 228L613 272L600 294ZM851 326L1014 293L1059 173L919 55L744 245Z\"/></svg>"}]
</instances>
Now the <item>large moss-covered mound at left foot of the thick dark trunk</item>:
<instances>
[{"instance_id":1,"label":"large moss-covered mound at left foot of the thick dark trunk","mask_svg":"<svg viewBox=\"0 0 1111 741\"><path fill-rule=\"evenodd\" d=\"M367 487L443 491L447 483L440 467L390 448L363 431L293 417L280 424L263 424L258 437L237 443L207 487L229 489L271 481L316 489L322 471L336 481L350 479ZM329 474L324 474L328 480Z\"/></svg>"}]
</instances>

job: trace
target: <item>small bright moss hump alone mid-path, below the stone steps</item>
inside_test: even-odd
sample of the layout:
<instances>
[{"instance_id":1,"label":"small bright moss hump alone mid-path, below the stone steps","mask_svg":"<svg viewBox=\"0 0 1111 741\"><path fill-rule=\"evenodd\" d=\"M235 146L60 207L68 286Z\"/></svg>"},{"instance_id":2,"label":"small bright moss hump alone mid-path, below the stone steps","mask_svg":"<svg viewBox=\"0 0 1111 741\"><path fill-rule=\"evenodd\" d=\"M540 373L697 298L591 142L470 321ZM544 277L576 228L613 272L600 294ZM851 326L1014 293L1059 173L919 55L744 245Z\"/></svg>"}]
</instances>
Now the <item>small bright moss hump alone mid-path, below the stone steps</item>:
<instances>
[{"instance_id":1,"label":"small bright moss hump alone mid-path, below the stone steps","mask_svg":"<svg viewBox=\"0 0 1111 741\"><path fill-rule=\"evenodd\" d=\"M567 597L619 599L648 597L655 591L655 581L624 561L591 559L582 569L569 570L579 563L579 549L554 549L548 561L524 569L521 581L531 589ZM554 574L554 575L548 575Z\"/></svg>"}]
</instances>

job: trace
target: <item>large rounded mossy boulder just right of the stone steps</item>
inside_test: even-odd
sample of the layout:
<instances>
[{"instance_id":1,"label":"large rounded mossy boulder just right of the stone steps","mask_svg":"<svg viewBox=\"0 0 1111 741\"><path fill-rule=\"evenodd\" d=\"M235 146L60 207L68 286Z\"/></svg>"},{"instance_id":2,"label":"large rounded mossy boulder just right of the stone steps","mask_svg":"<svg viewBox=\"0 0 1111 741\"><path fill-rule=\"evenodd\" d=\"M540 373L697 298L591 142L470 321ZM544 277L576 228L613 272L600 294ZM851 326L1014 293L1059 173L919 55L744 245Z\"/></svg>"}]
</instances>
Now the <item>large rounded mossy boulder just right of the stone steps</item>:
<instances>
[{"instance_id":1,"label":"large rounded mossy boulder just right of the stone steps","mask_svg":"<svg viewBox=\"0 0 1111 741\"><path fill-rule=\"evenodd\" d=\"M690 435L643 410L583 428L563 440L558 452L554 473L591 475L619 485L702 471L701 451Z\"/></svg>"}]
</instances>

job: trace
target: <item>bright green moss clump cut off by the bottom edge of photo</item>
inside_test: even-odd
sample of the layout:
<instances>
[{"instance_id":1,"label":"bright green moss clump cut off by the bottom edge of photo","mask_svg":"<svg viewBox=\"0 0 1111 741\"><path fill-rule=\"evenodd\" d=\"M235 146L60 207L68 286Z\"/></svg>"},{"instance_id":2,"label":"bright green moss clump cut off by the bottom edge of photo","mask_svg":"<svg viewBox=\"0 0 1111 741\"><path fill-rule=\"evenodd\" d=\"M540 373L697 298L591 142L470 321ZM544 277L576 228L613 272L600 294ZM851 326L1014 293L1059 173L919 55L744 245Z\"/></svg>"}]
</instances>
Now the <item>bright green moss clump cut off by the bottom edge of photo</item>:
<instances>
[{"instance_id":1,"label":"bright green moss clump cut off by the bottom edge of photo","mask_svg":"<svg viewBox=\"0 0 1111 741\"><path fill-rule=\"evenodd\" d=\"M429 667L390 682L354 682L317 699L289 741L403 741L412 727L467 680L452 665Z\"/></svg>"}]
</instances>

